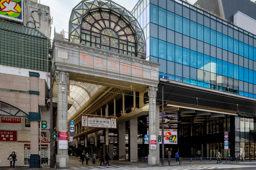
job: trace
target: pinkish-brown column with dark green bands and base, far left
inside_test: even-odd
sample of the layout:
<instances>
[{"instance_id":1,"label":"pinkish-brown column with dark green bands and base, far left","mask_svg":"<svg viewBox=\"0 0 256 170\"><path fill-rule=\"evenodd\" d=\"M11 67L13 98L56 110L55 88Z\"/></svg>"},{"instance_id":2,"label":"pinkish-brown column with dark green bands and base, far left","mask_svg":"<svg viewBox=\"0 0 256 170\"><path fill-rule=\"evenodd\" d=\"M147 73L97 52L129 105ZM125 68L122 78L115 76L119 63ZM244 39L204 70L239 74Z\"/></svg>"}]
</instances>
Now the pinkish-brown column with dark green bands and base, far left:
<instances>
[{"instance_id":1,"label":"pinkish-brown column with dark green bands and base, far left","mask_svg":"<svg viewBox=\"0 0 256 170\"><path fill-rule=\"evenodd\" d=\"M34 73L34 72L32 72L32 73ZM38 92L39 91L38 90L39 73L35 73L35 75L32 75L30 72L29 75L30 75L30 90ZM38 115L38 119L40 119L40 113L38 111L38 94L30 94L30 112L29 112L30 151L31 151L30 152L30 168L38 168L38 157L39 157L39 149L38 149L39 125L38 125L38 121L40 122L40 120L36 120L35 118L33 119L32 115ZM48 124L49 128L50 128L50 125L52 125L52 122L49 122L49 124Z\"/></svg>"}]
</instances>

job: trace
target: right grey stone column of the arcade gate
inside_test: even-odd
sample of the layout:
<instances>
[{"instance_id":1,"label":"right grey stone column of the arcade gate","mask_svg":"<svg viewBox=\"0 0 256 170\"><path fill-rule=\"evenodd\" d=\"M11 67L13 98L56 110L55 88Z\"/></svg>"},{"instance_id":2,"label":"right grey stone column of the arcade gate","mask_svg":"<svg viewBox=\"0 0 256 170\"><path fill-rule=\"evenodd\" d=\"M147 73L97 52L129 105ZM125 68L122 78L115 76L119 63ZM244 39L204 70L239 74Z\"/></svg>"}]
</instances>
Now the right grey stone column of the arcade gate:
<instances>
[{"instance_id":1,"label":"right grey stone column of the arcade gate","mask_svg":"<svg viewBox=\"0 0 256 170\"><path fill-rule=\"evenodd\" d=\"M149 155L148 155L148 166L157 166L157 150L150 149L150 135L156 134L156 87L150 87L147 89L149 94ZM159 121L159 120L158 120ZM159 133L159 132L158 132Z\"/></svg>"}]
</instances>

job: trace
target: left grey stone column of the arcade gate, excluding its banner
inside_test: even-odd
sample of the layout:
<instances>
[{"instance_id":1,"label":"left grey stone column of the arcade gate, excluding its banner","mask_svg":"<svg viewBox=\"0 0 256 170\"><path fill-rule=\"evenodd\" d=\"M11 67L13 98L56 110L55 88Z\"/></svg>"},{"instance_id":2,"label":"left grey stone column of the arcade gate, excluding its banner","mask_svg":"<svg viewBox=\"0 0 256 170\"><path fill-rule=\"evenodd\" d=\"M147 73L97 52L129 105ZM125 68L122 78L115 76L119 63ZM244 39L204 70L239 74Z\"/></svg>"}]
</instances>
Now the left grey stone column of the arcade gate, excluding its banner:
<instances>
[{"instance_id":1,"label":"left grey stone column of the arcade gate, excluding its banner","mask_svg":"<svg viewBox=\"0 0 256 170\"><path fill-rule=\"evenodd\" d=\"M69 72L56 70L56 81L57 81L57 97L58 97L58 124L57 130L68 132L68 83L69 83ZM56 156L56 168L69 169L69 156L68 148L59 149Z\"/></svg>"}]
</instances>

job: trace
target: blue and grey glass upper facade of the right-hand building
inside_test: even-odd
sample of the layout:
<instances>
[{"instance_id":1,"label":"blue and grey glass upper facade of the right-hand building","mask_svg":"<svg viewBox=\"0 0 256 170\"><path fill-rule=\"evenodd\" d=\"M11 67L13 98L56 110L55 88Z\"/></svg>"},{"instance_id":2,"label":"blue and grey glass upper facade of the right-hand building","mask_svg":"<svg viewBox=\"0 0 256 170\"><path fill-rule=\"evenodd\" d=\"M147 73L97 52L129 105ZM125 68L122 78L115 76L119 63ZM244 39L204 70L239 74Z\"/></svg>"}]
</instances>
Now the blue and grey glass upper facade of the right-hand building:
<instances>
[{"instance_id":1,"label":"blue and grey glass upper facade of the right-hand building","mask_svg":"<svg viewBox=\"0 0 256 170\"><path fill-rule=\"evenodd\" d=\"M179 0L143 0L132 14L159 77L256 98L255 35Z\"/></svg>"}]
</instances>

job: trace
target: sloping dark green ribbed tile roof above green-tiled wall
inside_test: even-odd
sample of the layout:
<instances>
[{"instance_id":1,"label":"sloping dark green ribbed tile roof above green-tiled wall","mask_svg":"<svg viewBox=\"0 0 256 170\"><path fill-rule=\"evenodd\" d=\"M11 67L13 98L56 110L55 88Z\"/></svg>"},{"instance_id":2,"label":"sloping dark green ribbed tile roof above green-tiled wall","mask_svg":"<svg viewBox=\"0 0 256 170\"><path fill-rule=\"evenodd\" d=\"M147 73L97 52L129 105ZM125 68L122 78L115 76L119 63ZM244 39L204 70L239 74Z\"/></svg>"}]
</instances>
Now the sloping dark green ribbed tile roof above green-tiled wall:
<instances>
[{"instance_id":1,"label":"sloping dark green ribbed tile roof above green-tiled wall","mask_svg":"<svg viewBox=\"0 0 256 170\"><path fill-rule=\"evenodd\" d=\"M39 31L36 28L31 28L31 27L20 25L20 24L6 22L6 21L0 21L0 29L21 33L25 35L36 36L40 38L47 38L46 35L44 35L41 31Z\"/></svg>"}]
</instances>

